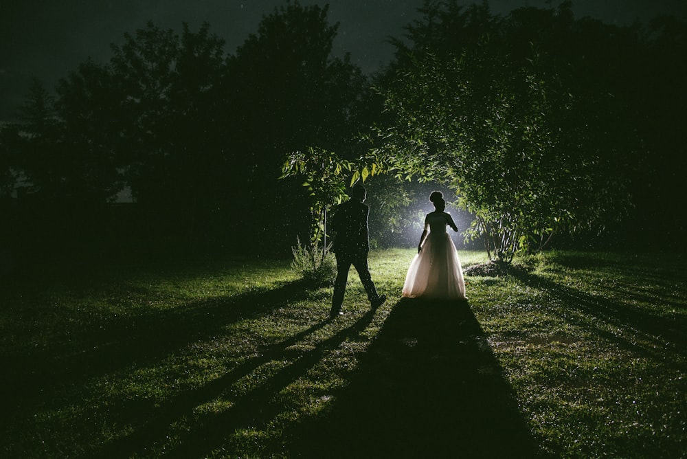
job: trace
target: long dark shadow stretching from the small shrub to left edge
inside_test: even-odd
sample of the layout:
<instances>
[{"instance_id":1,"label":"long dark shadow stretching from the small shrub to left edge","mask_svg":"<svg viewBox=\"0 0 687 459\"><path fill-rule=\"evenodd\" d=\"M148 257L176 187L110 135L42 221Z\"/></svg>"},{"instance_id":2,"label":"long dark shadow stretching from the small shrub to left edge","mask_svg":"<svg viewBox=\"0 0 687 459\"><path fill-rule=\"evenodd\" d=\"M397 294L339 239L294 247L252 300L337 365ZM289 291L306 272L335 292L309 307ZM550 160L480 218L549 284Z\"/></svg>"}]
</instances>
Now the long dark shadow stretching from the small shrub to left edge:
<instances>
[{"instance_id":1,"label":"long dark shadow stretching from the small shrub to left edge","mask_svg":"<svg viewBox=\"0 0 687 459\"><path fill-rule=\"evenodd\" d=\"M271 290L191 302L172 311L156 311L106 323L98 330L73 337L76 349L49 348L34 354L21 352L3 360L0 389L12 394L14 403L5 411L0 425L13 416L31 412L63 396L90 377L115 372L128 366L144 366L198 339L218 333L227 324L256 317L286 302L305 298L302 282L289 282Z\"/></svg>"}]
</instances>

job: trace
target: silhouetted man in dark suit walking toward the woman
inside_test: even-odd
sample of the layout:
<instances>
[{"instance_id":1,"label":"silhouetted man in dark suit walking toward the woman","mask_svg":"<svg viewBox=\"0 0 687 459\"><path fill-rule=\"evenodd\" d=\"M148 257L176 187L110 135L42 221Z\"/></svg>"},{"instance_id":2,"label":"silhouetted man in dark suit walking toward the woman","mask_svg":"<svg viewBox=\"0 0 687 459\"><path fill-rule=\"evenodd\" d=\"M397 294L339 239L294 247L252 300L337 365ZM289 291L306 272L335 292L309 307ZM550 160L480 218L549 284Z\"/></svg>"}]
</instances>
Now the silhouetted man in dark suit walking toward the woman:
<instances>
[{"instance_id":1,"label":"silhouetted man in dark suit walking toward the woman","mask_svg":"<svg viewBox=\"0 0 687 459\"><path fill-rule=\"evenodd\" d=\"M334 243L332 251L337 256L337 279L334 282L331 315L342 314L343 294L346 292L346 281L350 265L355 267L363 283L365 293L372 308L379 307L386 300L386 295L379 295L374 288L370 269L368 269L368 212L370 208L363 204L365 188L356 183L349 192L350 199L339 204L332 218Z\"/></svg>"}]
</instances>

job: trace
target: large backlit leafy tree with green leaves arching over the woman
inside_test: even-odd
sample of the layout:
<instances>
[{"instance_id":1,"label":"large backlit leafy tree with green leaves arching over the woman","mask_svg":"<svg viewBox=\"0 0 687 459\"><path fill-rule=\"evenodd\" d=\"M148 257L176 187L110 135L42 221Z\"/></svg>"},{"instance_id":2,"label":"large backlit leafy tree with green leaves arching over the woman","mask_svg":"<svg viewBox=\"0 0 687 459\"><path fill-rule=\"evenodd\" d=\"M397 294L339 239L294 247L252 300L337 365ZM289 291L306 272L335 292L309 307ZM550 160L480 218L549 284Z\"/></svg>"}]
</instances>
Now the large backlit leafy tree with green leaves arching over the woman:
<instances>
[{"instance_id":1,"label":"large backlit leafy tree with green leaves arching over the woman","mask_svg":"<svg viewBox=\"0 0 687 459\"><path fill-rule=\"evenodd\" d=\"M411 29L415 46L381 89L393 115L378 129L387 167L447 183L475 215L467 235L506 261L540 249L554 232L601 229L622 216L629 195L619 159L635 148L627 130L608 127L618 127L620 104L576 91L539 41L523 51L528 14L550 23L570 17L523 10L500 22L486 5L427 3L424 25ZM447 49L449 20L472 40Z\"/></svg>"}]
</instances>

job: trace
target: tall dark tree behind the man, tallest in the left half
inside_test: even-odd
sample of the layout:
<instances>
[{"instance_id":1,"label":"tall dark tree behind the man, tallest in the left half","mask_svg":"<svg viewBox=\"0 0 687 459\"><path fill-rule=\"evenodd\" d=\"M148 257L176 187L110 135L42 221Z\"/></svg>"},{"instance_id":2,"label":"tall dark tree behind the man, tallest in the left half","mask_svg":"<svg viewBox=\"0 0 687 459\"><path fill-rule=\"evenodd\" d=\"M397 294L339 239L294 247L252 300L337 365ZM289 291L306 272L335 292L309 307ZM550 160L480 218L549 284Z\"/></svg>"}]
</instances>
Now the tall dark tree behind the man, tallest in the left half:
<instances>
[{"instance_id":1,"label":"tall dark tree behind the man, tallest in the left half","mask_svg":"<svg viewBox=\"0 0 687 459\"><path fill-rule=\"evenodd\" d=\"M327 15L328 7L287 2L263 17L257 34L249 36L227 63L227 100L240 126L241 157L236 165L242 177L236 183L251 190L246 205L269 215L269 227L275 221L288 225L280 229L285 229L291 244L293 231L306 232L302 240L322 238L318 228L324 223L319 219L324 219L335 197L324 199L319 188L295 192L302 179L284 173L284 161L308 161L315 175L326 175L328 166L323 170L319 161L324 152L335 152L327 164L364 152L354 139L368 124L363 109L368 85L348 56L332 56L337 25L330 25ZM271 186L280 176L284 179ZM319 182L307 181L319 187ZM341 177L340 184L323 187L338 189L344 181ZM317 223L310 225L308 214ZM267 226L255 223L260 224L258 233Z\"/></svg>"}]
</instances>

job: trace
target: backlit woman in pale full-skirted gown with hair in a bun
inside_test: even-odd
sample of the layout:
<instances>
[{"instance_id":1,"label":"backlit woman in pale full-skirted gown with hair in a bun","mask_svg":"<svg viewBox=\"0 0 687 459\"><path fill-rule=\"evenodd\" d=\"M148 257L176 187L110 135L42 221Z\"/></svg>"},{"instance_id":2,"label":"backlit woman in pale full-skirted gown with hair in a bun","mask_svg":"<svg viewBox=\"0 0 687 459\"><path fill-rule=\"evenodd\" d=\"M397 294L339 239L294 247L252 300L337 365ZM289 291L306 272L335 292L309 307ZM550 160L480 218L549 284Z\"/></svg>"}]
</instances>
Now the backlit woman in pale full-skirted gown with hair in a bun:
<instances>
[{"instance_id":1,"label":"backlit woman in pale full-skirted gown with hair in a bun","mask_svg":"<svg viewBox=\"0 0 687 459\"><path fill-rule=\"evenodd\" d=\"M429 195L434 212L425 216L425 230L420 236L418 254L410 263L403 284L403 296L433 300L465 300L465 282L458 252L446 227L458 227L444 212L446 201L438 191Z\"/></svg>"}]
</instances>

